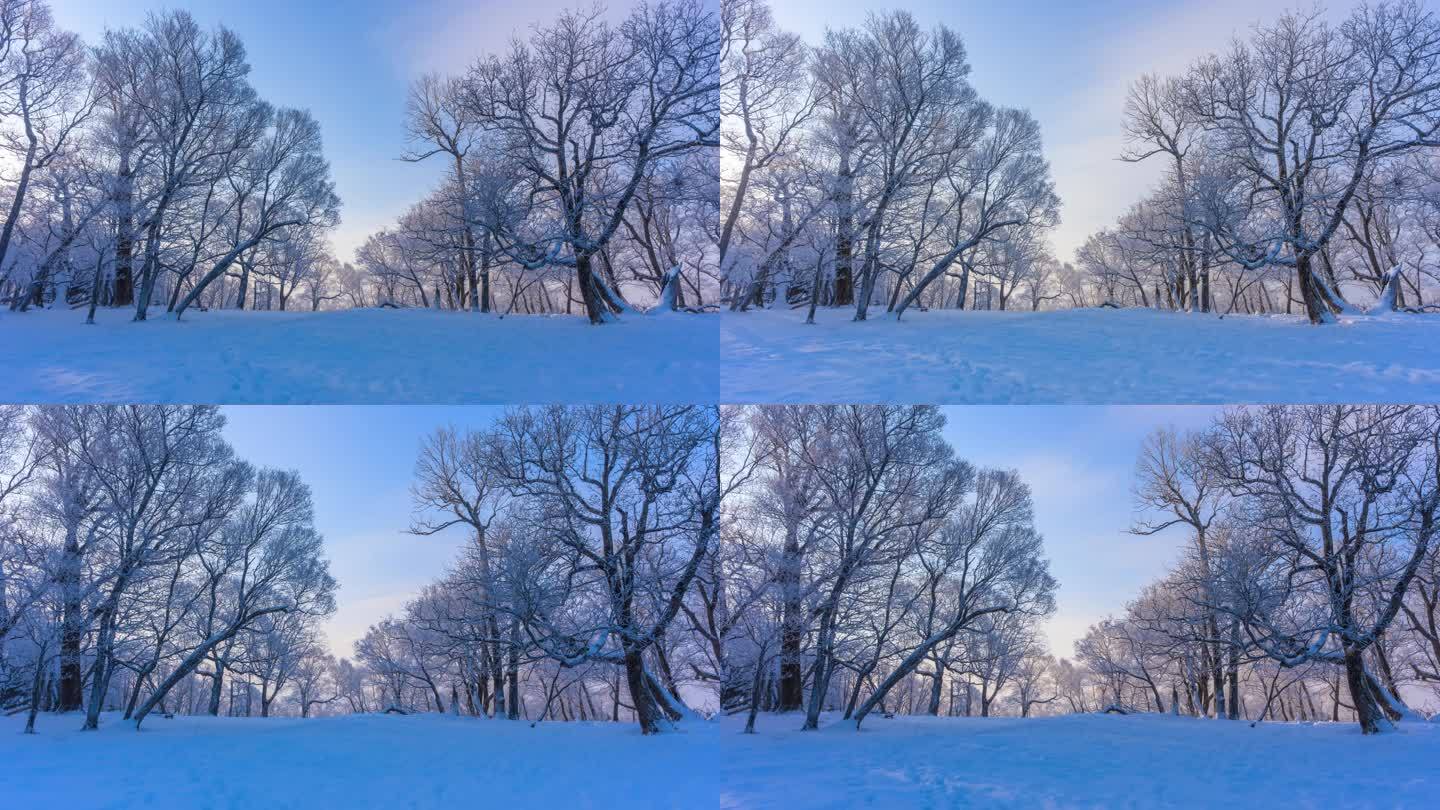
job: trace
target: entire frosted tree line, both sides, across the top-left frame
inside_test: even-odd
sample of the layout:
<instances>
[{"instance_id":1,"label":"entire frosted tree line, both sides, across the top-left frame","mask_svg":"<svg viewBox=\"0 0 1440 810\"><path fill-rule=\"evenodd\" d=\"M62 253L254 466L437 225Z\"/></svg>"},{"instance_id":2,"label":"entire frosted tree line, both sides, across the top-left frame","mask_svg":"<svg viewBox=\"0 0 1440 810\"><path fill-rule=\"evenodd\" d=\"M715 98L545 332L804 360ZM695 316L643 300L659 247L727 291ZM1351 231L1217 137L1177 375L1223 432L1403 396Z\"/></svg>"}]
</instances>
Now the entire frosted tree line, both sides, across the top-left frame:
<instances>
[{"instance_id":1,"label":"entire frosted tree line, both sides, across the top-left frame","mask_svg":"<svg viewBox=\"0 0 1440 810\"><path fill-rule=\"evenodd\" d=\"M249 82L245 45L187 12L86 45L0 1L9 200L0 301L134 310L433 307L583 313L714 298L719 22L698 0L564 12L426 75L410 161L444 182L351 261L320 127ZM397 111L399 112L399 111Z\"/></svg>"}]
</instances>

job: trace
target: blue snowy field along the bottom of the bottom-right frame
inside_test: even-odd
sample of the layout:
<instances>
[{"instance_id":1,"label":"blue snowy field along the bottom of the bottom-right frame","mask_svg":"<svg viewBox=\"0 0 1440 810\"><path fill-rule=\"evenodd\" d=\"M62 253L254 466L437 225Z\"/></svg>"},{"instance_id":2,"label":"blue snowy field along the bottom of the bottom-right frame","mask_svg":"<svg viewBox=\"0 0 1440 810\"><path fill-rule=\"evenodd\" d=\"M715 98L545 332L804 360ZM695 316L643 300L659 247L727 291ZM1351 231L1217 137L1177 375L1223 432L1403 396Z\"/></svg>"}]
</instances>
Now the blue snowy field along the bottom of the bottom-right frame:
<instances>
[{"instance_id":1,"label":"blue snowy field along the bottom of the bottom-right frame","mask_svg":"<svg viewBox=\"0 0 1440 810\"><path fill-rule=\"evenodd\" d=\"M1440 807L1440 724L1171 716L721 724L720 807Z\"/></svg>"}]
</instances>

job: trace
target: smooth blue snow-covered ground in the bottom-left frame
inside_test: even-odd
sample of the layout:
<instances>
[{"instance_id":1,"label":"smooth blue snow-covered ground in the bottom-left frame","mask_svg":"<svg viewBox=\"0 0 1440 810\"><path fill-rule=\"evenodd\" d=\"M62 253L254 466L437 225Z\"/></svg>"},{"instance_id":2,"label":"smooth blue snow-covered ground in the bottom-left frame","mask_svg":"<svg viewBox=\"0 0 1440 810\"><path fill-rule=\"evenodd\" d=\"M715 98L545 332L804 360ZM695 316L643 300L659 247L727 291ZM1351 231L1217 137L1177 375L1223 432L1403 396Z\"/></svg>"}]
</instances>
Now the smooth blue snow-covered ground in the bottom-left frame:
<instances>
[{"instance_id":1,"label":"smooth blue snow-covered ground in the bottom-left frame","mask_svg":"<svg viewBox=\"0 0 1440 810\"><path fill-rule=\"evenodd\" d=\"M634 724L446 715L0 718L0 807L714 807L717 724L644 738Z\"/></svg>"}]
</instances>

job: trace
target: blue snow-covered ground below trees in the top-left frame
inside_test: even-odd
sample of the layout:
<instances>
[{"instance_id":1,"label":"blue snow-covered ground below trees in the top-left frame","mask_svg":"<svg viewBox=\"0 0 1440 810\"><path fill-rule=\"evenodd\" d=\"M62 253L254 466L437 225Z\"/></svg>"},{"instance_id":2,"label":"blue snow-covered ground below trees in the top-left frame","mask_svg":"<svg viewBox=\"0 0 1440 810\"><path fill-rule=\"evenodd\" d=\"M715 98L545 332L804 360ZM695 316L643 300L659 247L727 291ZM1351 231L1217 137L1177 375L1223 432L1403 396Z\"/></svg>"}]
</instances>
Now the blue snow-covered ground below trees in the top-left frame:
<instances>
[{"instance_id":1,"label":"blue snow-covered ground below trees in the top-left frame","mask_svg":"<svg viewBox=\"0 0 1440 810\"><path fill-rule=\"evenodd\" d=\"M0 402L714 402L719 316L0 313Z\"/></svg>"}]
</instances>

